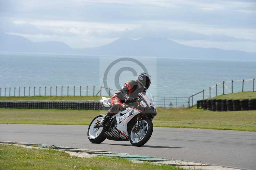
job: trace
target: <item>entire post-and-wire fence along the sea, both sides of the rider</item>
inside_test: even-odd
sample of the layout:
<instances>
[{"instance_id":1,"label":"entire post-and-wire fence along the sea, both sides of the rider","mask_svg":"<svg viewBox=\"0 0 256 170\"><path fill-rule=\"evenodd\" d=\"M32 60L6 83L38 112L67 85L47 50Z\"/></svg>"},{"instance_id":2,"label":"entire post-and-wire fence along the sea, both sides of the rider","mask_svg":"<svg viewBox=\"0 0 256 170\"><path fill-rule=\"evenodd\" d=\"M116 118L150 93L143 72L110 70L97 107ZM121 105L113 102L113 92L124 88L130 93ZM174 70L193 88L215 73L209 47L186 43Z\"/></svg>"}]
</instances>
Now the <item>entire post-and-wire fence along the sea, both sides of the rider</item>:
<instances>
[{"instance_id":1,"label":"entire post-and-wire fence along the sea, both sides of the rider","mask_svg":"<svg viewBox=\"0 0 256 170\"><path fill-rule=\"evenodd\" d=\"M252 81L249 83L249 81ZM220 94L255 91L255 78L246 80L223 81L190 97L155 96L157 107L185 108L193 106L196 100L211 98ZM105 89L105 90L103 90ZM26 96L110 96L116 89L102 86L44 86L44 87L9 87L0 88L0 97Z\"/></svg>"}]
</instances>

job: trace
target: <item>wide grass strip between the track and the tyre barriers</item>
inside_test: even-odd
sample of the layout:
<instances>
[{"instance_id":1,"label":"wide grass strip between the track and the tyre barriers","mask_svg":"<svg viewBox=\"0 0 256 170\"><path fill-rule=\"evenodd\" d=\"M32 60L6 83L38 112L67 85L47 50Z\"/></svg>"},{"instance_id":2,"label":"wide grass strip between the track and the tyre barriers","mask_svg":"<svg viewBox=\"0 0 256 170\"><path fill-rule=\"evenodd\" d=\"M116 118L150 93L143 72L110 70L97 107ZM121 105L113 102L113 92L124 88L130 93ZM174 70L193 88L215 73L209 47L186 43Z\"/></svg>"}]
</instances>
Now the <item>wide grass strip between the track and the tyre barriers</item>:
<instances>
[{"instance_id":1,"label":"wide grass strip between the track and the tyre barriers","mask_svg":"<svg viewBox=\"0 0 256 170\"><path fill-rule=\"evenodd\" d=\"M0 123L89 125L92 119L106 114L94 110L0 109ZM256 131L256 111L212 112L196 109L157 108L155 127L204 128Z\"/></svg>"}]
</instances>

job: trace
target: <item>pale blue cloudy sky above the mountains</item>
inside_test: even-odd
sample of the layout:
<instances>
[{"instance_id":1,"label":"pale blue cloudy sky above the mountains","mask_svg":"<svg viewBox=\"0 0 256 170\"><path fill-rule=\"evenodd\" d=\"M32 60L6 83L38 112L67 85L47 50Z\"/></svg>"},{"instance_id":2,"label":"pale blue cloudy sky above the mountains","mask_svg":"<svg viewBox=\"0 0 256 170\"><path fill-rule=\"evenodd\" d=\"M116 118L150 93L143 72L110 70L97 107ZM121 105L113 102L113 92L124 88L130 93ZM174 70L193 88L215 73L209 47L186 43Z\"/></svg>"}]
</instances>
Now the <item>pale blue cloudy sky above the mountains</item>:
<instances>
[{"instance_id":1,"label":"pale blue cloudy sky above the mountains","mask_svg":"<svg viewBox=\"0 0 256 170\"><path fill-rule=\"evenodd\" d=\"M0 31L72 48L150 36L256 52L256 0L0 0Z\"/></svg>"}]
</instances>

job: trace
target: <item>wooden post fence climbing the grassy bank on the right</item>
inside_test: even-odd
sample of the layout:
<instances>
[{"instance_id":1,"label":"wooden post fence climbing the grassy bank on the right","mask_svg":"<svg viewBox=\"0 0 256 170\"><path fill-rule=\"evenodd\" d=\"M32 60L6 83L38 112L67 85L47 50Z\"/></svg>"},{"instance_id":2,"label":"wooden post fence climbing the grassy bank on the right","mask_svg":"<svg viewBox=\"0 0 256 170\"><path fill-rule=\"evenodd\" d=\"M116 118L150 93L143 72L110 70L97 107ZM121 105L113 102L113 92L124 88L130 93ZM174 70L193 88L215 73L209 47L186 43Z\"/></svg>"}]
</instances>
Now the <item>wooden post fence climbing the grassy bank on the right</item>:
<instances>
[{"instance_id":1,"label":"wooden post fence climbing the grassy bank on the right","mask_svg":"<svg viewBox=\"0 0 256 170\"><path fill-rule=\"evenodd\" d=\"M196 100L244 91L255 91L255 78L222 81L208 89L203 89L202 91L188 97L188 107L193 106L194 103L196 103Z\"/></svg>"}]
</instances>

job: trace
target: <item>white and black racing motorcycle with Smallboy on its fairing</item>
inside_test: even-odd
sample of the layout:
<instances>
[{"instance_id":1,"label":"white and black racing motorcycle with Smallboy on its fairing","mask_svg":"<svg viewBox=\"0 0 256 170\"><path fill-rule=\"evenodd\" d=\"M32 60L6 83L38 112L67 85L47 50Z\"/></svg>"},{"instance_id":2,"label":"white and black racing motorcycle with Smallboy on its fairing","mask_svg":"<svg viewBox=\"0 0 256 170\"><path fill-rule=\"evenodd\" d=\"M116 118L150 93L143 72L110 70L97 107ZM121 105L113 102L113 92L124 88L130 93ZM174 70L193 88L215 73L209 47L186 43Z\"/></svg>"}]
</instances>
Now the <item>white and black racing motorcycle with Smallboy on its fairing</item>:
<instances>
[{"instance_id":1,"label":"white and black racing motorcycle with Smallboy on its fairing","mask_svg":"<svg viewBox=\"0 0 256 170\"><path fill-rule=\"evenodd\" d=\"M100 124L104 115L96 116L87 131L92 143L101 143L105 139L116 141L130 141L133 146L142 146L148 142L153 133L152 120L156 116L156 106L149 92L138 94L139 97L123 104L123 109L113 115L107 126ZM103 107L112 107L110 98L102 97Z\"/></svg>"}]
</instances>

